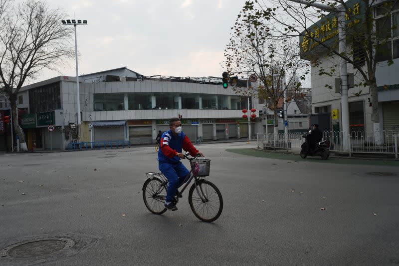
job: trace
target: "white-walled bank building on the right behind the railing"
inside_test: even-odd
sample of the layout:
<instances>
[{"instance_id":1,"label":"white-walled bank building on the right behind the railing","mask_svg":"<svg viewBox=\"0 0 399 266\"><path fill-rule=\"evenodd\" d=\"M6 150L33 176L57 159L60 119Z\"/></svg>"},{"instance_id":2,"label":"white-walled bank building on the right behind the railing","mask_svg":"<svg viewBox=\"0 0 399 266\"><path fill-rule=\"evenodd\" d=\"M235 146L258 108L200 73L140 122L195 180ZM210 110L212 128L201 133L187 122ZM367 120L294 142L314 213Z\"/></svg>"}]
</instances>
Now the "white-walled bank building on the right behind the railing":
<instances>
[{"instance_id":1,"label":"white-walled bank building on the right behind the railing","mask_svg":"<svg viewBox=\"0 0 399 266\"><path fill-rule=\"evenodd\" d=\"M350 3L351 2L351 3ZM348 4L354 3L364 4L362 1L348 1ZM384 1L378 1L379 4ZM385 1L386 2L386 1ZM383 128L386 133L399 134L399 30L392 28L391 25L399 21L399 4L396 3L391 11L392 15L386 23L386 28L391 32L391 37L387 42L384 49L376 51L376 58L378 58L376 69L376 80L379 89L379 113L380 113L380 128ZM379 23L378 5L375 12L376 23ZM359 18L362 21L362 18ZM323 21L321 19L320 21ZM316 24L311 25L309 28L318 28ZM335 30L333 28L332 30ZM313 32L312 32L313 33ZM328 32L326 32L328 34ZM322 37L322 36L321 36ZM333 39L333 38L332 38ZM331 40L332 40L331 39ZM330 40L329 40L330 41ZM302 44L303 45L303 42ZM313 44L314 45L314 44ZM309 42L310 54L313 47L312 42ZM317 47L317 46L316 46ZM347 50L356 52L356 45L350 41L347 43ZM314 53L313 56L317 54ZM339 77L338 56L329 56L326 54L317 54L321 64L317 67L311 67L312 79L312 108L313 113L330 113L332 117L332 125L330 130L342 131L341 121L341 94L339 90L335 90L335 78ZM357 54L360 58L361 55ZM303 56L305 59L311 60L312 57ZM394 64L387 65L388 59L393 59ZM359 59L361 60L361 59ZM336 68L335 76L319 75L320 69ZM347 64L348 73L355 73L355 84L362 82L363 77L353 69L352 64ZM365 69L366 70L366 69ZM366 70L367 71L367 70ZM330 85L333 89L326 87ZM372 107L370 104L370 90L369 87L354 87L348 90L349 96L349 124L351 132L373 132L373 122L371 120Z\"/></svg>"}]
</instances>

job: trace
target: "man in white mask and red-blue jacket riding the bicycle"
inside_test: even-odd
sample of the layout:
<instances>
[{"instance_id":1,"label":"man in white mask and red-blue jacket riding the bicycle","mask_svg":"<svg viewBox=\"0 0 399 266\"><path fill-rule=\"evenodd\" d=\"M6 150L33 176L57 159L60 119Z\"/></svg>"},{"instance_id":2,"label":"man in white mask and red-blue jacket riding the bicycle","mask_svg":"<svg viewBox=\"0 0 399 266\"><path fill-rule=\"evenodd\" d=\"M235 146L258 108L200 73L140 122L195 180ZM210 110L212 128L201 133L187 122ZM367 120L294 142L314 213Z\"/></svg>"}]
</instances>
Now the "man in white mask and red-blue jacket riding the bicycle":
<instances>
[{"instance_id":1,"label":"man in white mask and red-blue jacket riding the bicycle","mask_svg":"<svg viewBox=\"0 0 399 266\"><path fill-rule=\"evenodd\" d=\"M182 131L182 122L179 118L171 118L169 121L170 130L164 132L161 137L161 147L158 151L159 170L168 179L168 194L165 207L168 210L176 211L174 196L178 194L178 188L183 185L189 170L180 161L184 155L182 148L188 151L191 156L203 156L191 143L189 137Z\"/></svg>"}]
</instances>

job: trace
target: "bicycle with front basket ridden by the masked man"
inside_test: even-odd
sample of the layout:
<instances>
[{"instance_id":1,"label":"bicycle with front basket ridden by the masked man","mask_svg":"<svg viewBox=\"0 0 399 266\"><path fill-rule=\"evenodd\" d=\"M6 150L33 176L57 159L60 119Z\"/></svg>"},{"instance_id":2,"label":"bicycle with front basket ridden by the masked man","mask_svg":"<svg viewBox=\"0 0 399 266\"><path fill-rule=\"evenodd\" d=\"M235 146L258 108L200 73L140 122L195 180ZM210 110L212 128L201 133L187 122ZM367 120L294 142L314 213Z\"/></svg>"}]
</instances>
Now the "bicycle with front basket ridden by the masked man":
<instances>
[{"instance_id":1,"label":"bicycle with front basket ridden by the masked man","mask_svg":"<svg viewBox=\"0 0 399 266\"><path fill-rule=\"evenodd\" d=\"M219 218L223 210L223 199L219 189L204 179L205 176L209 176L210 160L197 159L198 157L189 157L188 152L184 156L190 161L191 171L183 182L186 185L179 195L174 197L174 201L179 202L179 198L194 179L189 191L190 208L198 219L210 223ZM147 180L143 185L144 204L151 213L161 215L168 210L164 205L168 192L168 180L162 173L148 172L146 176Z\"/></svg>"}]
</instances>

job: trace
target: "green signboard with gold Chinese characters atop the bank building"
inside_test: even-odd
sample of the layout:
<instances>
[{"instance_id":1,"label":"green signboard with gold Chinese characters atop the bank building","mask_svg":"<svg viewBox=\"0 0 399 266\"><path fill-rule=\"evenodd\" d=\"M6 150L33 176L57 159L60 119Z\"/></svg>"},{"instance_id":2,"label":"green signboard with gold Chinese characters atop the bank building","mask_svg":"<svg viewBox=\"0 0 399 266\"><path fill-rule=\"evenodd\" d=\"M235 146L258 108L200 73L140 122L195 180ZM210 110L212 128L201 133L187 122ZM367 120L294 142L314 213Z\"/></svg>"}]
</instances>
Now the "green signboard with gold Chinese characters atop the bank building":
<instances>
[{"instance_id":1,"label":"green signboard with gold Chinese characters atop the bank building","mask_svg":"<svg viewBox=\"0 0 399 266\"><path fill-rule=\"evenodd\" d=\"M346 4L346 28L354 32L363 24L361 22L365 14L365 4L360 0L349 0ZM320 42L332 48L338 47L338 13L329 13L300 34L301 57L308 59L309 56L323 53L326 48Z\"/></svg>"}]
</instances>

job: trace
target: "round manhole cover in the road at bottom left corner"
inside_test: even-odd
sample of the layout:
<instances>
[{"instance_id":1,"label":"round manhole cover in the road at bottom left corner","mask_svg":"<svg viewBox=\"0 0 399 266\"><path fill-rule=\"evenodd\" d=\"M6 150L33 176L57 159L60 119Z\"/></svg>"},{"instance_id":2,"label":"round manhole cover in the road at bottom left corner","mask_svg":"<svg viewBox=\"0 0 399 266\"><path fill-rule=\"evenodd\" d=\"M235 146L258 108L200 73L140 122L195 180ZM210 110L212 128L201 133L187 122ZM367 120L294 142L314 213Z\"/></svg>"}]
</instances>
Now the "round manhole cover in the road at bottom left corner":
<instances>
[{"instance_id":1,"label":"round manhole cover in the road at bottom left corner","mask_svg":"<svg viewBox=\"0 0 399 266\"><path fill-rule=\"evenodd\" d=\"M17 243L0 251L0 257L34 258L45 257L72 248L75 242L66 238L46 238Z\"/></svg>"}]
</instances>

